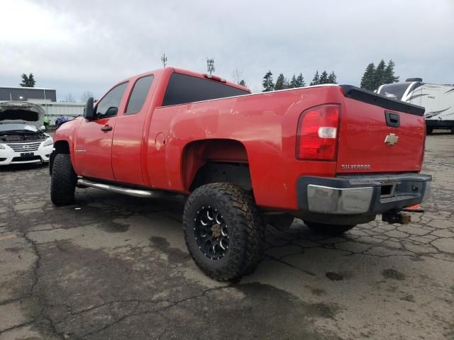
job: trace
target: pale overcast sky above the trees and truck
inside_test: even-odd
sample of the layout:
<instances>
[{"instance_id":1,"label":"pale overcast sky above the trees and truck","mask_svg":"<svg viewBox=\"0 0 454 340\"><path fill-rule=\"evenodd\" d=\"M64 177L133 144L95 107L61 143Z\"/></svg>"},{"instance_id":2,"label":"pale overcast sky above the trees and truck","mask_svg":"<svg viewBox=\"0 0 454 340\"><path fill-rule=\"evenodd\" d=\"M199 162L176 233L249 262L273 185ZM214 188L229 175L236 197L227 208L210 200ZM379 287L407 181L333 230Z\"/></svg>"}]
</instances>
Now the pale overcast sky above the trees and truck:
<instances>
[{"instance_id":1,"label":"pale overcast sky above the trees and truck","mask_svg":"<svg viewBox=\"0 0 454 340\"><path fill-rule=\"evenodd\" d=\"M1 0L0 86L33 72L36 86L79 98L168 66L232 79L254 92L275 79L334 70L358 85L370 62L396 74L454 83L454 0Z\"/></svg>"}]
</instances>

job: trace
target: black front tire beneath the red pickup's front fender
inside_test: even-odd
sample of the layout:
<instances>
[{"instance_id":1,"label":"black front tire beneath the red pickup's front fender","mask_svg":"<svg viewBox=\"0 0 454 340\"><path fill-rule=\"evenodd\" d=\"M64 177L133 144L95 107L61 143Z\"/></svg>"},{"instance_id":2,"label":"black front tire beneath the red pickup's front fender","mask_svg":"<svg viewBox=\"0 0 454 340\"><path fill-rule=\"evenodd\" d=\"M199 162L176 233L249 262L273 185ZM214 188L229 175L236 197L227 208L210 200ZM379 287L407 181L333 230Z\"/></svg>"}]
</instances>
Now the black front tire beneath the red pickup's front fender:
<instances>
[{"instance_id":1,"label":"black front tire beneath the red pickup's front fender","mask_svg":"<svg viewBox=\"0 0 454 340\"><path fill-rule=\"evenodd\" d=\"M72 169L69 154L57 154L52 164L50 179L50 200L55 205L69 205L74 202L77 176Z\"/></svg>"}]
</instances>

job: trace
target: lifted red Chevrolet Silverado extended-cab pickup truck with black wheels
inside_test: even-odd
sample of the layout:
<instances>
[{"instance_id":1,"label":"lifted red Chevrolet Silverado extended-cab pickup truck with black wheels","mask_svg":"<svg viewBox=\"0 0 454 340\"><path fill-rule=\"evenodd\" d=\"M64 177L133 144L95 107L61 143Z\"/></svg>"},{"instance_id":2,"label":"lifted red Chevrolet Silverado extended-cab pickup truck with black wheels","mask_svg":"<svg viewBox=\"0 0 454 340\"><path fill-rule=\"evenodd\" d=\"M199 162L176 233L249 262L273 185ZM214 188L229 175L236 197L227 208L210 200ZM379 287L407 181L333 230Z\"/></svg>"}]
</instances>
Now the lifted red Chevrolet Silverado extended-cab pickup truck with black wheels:
<instances>
[{"instance_id":1,"label":"lifted red Chevrolet Silverado extended-cab pickup truck with black wheels","mask_svg":"<svg viewBox=\"0 0 454 340\"><path fill-rule=\"evenodd\" d=\"M354 86L250 94L209 74L159 69L116 84L55 132L50 195L75 188L189 196L184 237L211 278L258 265L265 225L294 217L341 233L428 197L424 110Z\"/></svg>"}]
</instances>

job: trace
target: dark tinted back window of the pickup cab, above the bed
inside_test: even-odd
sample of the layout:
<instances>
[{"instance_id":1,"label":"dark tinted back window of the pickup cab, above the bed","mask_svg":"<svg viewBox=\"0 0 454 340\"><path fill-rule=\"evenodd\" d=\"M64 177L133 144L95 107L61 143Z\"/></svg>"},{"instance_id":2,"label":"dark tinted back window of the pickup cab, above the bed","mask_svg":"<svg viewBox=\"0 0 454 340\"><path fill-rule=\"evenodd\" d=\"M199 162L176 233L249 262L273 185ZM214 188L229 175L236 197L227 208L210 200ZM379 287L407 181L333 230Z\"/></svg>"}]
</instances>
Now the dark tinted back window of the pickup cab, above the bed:
<instances>
[{"instance_id":1,"label":"dark tinted back window of the pickup cab, above the bed","mask_svg":"<svg viewBox=\"0 0 454 340\"><path fill-rule=\"evenodd\" d=\"M162 106L207 101L242 94L249 94L249 92L217 81L174 73L170 77Z\"/></svg>"}]
</instances>

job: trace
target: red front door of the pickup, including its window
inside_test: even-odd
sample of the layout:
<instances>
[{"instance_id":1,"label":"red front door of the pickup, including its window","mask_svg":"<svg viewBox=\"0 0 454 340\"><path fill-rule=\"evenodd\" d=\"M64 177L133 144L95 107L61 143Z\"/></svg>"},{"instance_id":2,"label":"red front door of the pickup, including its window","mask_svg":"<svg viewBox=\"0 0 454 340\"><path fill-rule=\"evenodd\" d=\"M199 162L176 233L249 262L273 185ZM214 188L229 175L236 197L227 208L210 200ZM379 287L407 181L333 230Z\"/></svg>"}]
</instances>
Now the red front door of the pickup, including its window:
<instances>
[{"instance_id":1,"label":"red front door of the pickup, including its window","mask_svg":"<svg viewBox=\"0 0 454 340\"><path fill-rule=\"evenodd\" d=\"M74 168L77 174L114 181L112 170L112 136L118 111L124 109L128 82L118 84L96 104L96 118L83 120L77 130Z\"/></svg>"}]
</instances>

